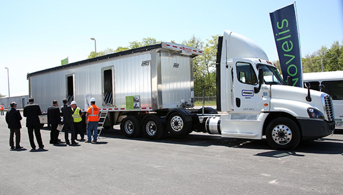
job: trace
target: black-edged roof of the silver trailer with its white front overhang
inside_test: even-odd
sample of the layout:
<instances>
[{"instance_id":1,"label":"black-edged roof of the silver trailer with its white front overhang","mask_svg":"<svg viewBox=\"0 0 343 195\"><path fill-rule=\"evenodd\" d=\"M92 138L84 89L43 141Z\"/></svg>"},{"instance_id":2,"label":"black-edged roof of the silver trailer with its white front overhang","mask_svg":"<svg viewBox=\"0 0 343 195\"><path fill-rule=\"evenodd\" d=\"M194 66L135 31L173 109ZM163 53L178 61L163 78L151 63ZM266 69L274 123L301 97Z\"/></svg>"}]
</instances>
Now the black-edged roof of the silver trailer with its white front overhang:
<instances>
[{"instance_id":1,"label":"black-edged roof of the silver trailer with its white front overhang","mask_svg":"<svg viewBox=\"0 0 343 195\"><path fill-rule=\"evenodd\" d=\"M125 50L125 51L120 51L120 52L116 52L116 53L107 54L105 56L99 56L99 57L96 57L96 58L90 58L90 59L86 59L86 60L82 60L82 61L78 61L78 62L69 63L69 64L66 64L66 65L56 66L56 67L53 67L53 68L49 68L49 69L45 69L45 70L40 70L40 71L33 72L33 73L27 73L26 78L28 79L30 76L34 76L34 75L41 74L41 73L57 71L57 70L65 69L65 68L70 68L70 67L73 67L73 66L88 64L90 62L96 62L96 61L100 61L100 60L115 58L115 57L118 57L118 56L125 56L125 55L132 54L132 53L139 53L139 52L149 51L149 50L158 49L158 48L179 50L179 51L181 51L182 53L185 54L185 52L184 52L185 51L185 47L186 47L186 51L187 51L187 48L190 49L189 51L187 51L188 54L186 52L186 55L189 55L191 58L194 58L197 55L203 55L203 51L199 50L199 49L195 49L195 48L191 48L191 47L187 47L187 46L183 46L183 45L179 45L179 44L175 44L175 43L161 42L161 43L154 44L154 45L148 45L148 46L144 46L144 47L129 49L129 50Z\"/></svg>"}]
</instances>

